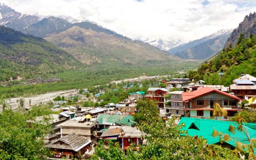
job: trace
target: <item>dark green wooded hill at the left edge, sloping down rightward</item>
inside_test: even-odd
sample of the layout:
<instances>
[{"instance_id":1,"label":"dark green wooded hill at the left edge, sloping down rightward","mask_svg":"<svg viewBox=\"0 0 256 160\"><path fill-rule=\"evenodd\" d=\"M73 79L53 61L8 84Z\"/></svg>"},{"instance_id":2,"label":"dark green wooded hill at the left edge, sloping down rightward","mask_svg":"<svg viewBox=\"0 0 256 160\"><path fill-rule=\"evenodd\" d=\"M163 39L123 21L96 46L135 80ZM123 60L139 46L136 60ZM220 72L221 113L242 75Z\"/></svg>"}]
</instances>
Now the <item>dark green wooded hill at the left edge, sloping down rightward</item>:
<instances>
[{"instance_id":1,"label":"dark green wooded hill at the left edge, sloping down rightward","mask_svg":"<svg viewBox=\"0 0 256 160\"><path fill-rule=\"evenodd\" d=\"M1 73L56 71L81 65L68 52L58 49L45 39L3 26L0 26L0 60Z\"/></svg>"}]
</instances>

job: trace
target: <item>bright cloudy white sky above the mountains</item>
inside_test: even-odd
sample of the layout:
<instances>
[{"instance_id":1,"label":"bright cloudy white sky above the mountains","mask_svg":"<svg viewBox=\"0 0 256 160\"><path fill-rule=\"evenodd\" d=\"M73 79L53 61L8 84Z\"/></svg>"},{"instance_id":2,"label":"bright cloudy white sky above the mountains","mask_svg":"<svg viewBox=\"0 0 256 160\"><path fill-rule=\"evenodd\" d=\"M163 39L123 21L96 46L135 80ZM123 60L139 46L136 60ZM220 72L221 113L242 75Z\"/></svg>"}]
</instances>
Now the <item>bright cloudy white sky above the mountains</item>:
<instances>
[{"instance_id":1,"label":"bright cloudy white sky above the mountains","mask_svg":"<svg viewBox=\"0 0 256 160\"><path fill-rule=\"evenodd\" d=\"M184 42L220 29L236 28L256 0L0 0L15 10L38 16L67 15L131 38Z\"/></svg>"}]
</instances>

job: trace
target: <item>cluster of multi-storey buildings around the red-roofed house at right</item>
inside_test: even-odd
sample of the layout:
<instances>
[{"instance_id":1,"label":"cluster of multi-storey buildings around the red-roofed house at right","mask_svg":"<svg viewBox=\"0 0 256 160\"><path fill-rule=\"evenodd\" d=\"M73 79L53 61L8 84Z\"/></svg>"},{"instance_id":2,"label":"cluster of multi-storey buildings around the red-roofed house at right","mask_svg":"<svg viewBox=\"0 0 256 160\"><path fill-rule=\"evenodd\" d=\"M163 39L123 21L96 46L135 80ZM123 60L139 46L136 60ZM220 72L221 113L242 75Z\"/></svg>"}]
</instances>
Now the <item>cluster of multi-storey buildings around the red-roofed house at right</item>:
<instances>
[{"instance_id":1,"label":"cluster of multi-storey buildings around the red-roofed house at right","mask_svg":"<svg viewBox=\"0 0 256 160\"><path fill-rule=\"evenodd\" d=\"M162 82L166 83L166 88L149 88L149 93L145 95L145 98L157 101L160 114L209 118L212 117L213 104L219 103L227 110L229 117L242 111L239 102L243 100L250 100L248 105L254 110L256 78L251 75L241 75L230 87L205 85L202 80L195 83L188 79ZM176 91L169 91L173 88Z\"/></svg>"}]
</instances>

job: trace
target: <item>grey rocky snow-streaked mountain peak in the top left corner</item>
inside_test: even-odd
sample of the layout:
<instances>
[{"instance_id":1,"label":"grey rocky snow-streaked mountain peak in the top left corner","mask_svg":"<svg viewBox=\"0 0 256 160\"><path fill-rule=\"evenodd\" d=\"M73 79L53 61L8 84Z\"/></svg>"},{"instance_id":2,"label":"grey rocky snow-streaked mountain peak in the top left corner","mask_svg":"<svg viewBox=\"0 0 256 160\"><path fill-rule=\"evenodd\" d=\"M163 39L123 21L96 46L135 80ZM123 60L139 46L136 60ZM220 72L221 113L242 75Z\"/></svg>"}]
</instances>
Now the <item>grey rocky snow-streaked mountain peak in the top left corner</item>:
<instances>
[{"instance_id":1,"label":"grey rocky snow-streaked mountain peak in the top left corner","mask_svg":"<svg viewBox=\"0 0 256 160\"><path fill-rule=\"evenodd\" d=\"M39 18L36 16L21 14L5 4L0 4L0 25L14 30L23 30L37 22Z\"/></svg>"}]
</instances>

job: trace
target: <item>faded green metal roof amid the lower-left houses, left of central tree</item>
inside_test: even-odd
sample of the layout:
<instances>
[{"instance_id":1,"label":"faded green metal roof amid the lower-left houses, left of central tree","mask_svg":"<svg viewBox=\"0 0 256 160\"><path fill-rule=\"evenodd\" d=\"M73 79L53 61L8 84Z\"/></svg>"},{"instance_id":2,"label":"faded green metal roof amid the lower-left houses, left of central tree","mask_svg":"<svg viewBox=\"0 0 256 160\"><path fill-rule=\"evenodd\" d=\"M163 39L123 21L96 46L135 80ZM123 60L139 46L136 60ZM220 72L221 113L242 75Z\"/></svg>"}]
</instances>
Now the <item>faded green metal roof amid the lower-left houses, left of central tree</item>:
<instances>
[{"instance_id":1,"label":"faded green metal roof amid the lower-left houses, left of central tree","mask_svg":"<svg viewBox=\"0 0 256 160\"><path fill-rule=\"evenodd\" d=\"M132 115L116 115L116 114L100 114L96 121L99 122L99 124L104 125L111 125L113 123L116 123L124 118L130 119ZM128 121L128 120L127 120Z\"/></svg>"}]
</instances>

